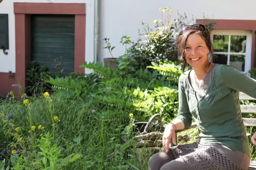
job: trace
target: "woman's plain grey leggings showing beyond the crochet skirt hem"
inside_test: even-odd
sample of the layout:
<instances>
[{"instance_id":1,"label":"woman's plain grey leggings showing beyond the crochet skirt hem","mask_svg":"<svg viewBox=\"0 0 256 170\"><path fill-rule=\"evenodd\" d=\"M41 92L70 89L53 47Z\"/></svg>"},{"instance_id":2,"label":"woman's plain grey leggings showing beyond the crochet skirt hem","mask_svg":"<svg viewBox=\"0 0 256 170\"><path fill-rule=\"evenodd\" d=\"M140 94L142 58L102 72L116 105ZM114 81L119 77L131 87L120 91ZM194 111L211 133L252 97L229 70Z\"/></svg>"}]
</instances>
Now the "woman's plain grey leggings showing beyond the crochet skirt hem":
<instances>
[{"instance_id":1,"label":"woman's plain grey leggings showing beyond the crochet skirt hem","mask_svg":"<svg viewBox=\"0 0 256 170\"><path fill-rule=\"evenodd\" d=\"M152 155L149 159L149 170L187 170L186 164L181 158L175 159L174 154L169 150L168 153L159 152Z\"/></svg>"}]
</instances>

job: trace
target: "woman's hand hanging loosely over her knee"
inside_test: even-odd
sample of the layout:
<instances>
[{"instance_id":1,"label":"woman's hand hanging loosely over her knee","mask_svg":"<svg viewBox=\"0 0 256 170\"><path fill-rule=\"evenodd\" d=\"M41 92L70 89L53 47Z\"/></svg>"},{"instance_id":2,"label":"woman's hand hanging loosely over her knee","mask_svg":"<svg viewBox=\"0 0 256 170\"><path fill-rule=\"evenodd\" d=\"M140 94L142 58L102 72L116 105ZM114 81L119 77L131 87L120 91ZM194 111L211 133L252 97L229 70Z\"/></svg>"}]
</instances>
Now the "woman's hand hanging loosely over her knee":
<instances>
[{"instance_id":1,"label":"woman's hand hanging loosely over her knee","mask_svg":"<svg viewBox=\"0 0 256 170\"><path fill-rule=\"evenodd\" d=\"M165 127L165 131L163 134L163 147L164 147L166 153L169 151L169 143L171 140L174 145L177 145L175 130L176 130L176 127L173 124L168 124Z\"/></svg>"}]
</instances>

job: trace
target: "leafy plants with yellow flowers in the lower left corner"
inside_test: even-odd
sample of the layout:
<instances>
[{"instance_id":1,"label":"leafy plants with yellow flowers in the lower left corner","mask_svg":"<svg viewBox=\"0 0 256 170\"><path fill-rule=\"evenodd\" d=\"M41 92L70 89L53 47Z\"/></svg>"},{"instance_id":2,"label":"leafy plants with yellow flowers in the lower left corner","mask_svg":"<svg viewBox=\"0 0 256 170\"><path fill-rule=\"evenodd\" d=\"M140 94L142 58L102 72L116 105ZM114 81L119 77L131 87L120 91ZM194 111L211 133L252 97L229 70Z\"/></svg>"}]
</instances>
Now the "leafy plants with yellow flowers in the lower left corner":
<instances>
[{"instance_id":1,"label":"leafy plants with yellow flowers in the lower left corner","mask_svg":"<svg viewBox=\"0 0 256 170\"><path fill-rule=\"evenodd\" d=\"M24 119L23 124L25 127L15 125L14 115L7 117L3 113L0 114L2 122L0 123L0 127L4 129L3 136L8 137L8 141L10 141L7 146L10 149L2 151L1 154L6 154L6 156L9 154L10 160L8 162L11 162L12 169L63 169L69 162L73 162L81 156L80 154L72 153L62 158L63 155L61 152L63 148L58 146L55 136L56 124L59 122L59 117L55 115L53 102L49 93L45 92L44 97L48 103L47 108L49 109L49 118L52 127L50 131L53 137L45 130L45 126L35 126L32 106L28 99L23 100L23 104L27 108L27 115L24 118L22 116L20 117ZM43 135L44 132L45 135ZM4 167L5 160L2 164ZM8 165L8 167L10 166Z\"/></svg>"}]
</instances>

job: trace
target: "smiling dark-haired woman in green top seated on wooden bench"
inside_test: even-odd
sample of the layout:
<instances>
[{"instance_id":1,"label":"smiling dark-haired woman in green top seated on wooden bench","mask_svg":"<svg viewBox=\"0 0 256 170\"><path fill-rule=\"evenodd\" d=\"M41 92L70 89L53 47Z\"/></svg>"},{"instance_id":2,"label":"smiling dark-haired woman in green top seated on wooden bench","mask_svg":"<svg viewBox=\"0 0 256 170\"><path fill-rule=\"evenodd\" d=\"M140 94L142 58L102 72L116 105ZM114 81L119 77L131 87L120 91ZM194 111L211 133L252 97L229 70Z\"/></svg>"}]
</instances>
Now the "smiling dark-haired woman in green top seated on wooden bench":
<instances>
[{"instance_id":1,"label":"smiling dark-haired woman in green top seated on wooden bench","mask_svg":"<svg viewBox=\"0 0 256 170\"><path fill-rule=\"evenodd\" d=\"M181 28L177 43L180 60L192 69L179 78L178 116L165 128L165 152L150 158L149 169L248 169L250 146L239 92L256 98L256 80L229 65L212 63L210 33L202 24ZM199 142L169 148L170 141L176 145L175 130L189 128L192 116L200 131Z\"/></svg>"}]
</instances>

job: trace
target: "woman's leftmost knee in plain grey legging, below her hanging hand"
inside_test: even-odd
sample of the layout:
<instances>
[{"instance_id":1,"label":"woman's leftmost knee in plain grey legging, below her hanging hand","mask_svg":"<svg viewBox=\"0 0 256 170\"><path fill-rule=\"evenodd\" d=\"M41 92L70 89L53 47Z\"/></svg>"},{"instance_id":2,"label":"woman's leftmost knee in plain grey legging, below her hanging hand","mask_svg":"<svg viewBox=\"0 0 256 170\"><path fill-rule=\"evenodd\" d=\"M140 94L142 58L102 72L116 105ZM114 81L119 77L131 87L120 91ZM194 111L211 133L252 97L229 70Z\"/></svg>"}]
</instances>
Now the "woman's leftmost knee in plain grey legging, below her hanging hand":
<instances>
[{"instance_id":1,"label":"woman's leftmost knee in plain grey legging, below her hanging hand","mask_svg":"<svg viewBox=\"0 0 256 170\"><path fill-rule=\"evenodd\" d=\"M170 151L168 153L165 153L165 151L158 152L149 158L148 167L150 170L159 170L163 165L174 159L175 157Z\"/></svg>"}]
</instances>

